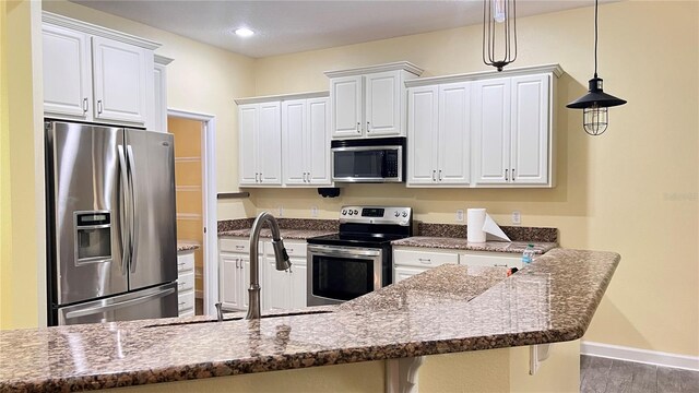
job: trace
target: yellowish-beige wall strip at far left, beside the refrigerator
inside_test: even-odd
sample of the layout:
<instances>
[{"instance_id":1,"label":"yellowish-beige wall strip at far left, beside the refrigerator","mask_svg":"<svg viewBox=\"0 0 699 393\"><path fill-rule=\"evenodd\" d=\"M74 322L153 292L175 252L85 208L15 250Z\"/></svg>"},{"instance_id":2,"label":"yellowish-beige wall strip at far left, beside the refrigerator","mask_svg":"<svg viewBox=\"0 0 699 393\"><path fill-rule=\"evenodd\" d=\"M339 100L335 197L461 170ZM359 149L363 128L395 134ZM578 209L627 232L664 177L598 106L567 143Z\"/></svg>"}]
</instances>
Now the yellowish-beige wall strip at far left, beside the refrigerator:
<instances>
[{"instance_id":1,"label":"yellowish-beige wall strip at far left, beside the refrigerator","mask_svg":"<svg viewBox=\"0 0 699 393\"><path fill-rule=\"evenodd\" d=\"M0 329L16 329L46 323L40 8L3 1L0 13Z\"/></svg>"}]
</instances>

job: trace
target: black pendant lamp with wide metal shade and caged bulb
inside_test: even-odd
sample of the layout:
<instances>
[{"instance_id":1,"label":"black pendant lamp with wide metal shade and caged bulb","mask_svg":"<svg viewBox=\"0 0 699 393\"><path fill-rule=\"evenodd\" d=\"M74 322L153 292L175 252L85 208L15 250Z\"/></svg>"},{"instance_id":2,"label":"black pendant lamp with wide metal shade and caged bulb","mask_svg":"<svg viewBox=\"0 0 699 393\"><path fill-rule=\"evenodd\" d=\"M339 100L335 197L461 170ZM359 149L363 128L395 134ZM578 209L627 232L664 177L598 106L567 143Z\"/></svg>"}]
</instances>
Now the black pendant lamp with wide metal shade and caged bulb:
<instances>
[{"instance_id":1,"label":"black pendant lamp with wide metal shade and caged bulb","mask_svg":"<svg viewBox=\"0 0 699 393\"><path fill-rule=\"evenodd\" d=\"M566 105L582 109L582 126L590 135L601 135L609 123L608 107L624 105L626 100L604 93L602 78L597 78L597 0L594 0L594 78L589 82L588 94Z\"/></svg>"}]
</instances>

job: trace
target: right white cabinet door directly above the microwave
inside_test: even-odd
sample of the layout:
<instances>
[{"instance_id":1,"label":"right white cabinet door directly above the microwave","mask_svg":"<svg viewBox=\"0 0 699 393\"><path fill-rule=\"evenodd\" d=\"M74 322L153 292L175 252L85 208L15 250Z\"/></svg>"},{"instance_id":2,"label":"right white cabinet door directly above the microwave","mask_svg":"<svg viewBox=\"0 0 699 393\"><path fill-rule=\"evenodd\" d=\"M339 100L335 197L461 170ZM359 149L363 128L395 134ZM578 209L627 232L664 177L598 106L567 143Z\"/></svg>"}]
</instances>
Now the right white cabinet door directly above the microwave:
<instances>
[{"instance_id":1,"label":"right white cabinet door directly above the microwave","mask_svg":"<svg viewBox=\"0 0 699 393\"><path fill-rule=\"evenodd\" d=\"M365 116L367 136L401 134L400 71L387 71L365 76Z\"/></svg>"}]
</instances>

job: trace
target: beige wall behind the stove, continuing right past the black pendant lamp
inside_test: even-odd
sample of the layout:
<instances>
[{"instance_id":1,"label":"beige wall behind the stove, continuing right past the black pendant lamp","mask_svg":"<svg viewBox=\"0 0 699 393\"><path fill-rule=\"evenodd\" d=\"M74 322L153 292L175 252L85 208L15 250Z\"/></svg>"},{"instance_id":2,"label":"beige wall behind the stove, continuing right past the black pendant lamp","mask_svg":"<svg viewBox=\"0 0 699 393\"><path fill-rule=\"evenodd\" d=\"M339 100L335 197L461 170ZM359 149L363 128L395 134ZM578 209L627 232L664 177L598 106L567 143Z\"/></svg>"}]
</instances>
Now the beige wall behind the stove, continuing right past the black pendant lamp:
<instances>
[{"instance_id":1,"label":"beige wall behind the stove, continuing right past the black pendant lamp","mask_svg":"<svg viewBox=\"0 0 699 393\"><path fill-rule=\"evenodd\" d=\"M585 338L699 355L698 53L699 3L623 1L600 7L600 75L629 102L611 109L608 131L588 136L580 111L593 72L593 9L522 17L512 67L560 63L556 107L558 187L552 190L415 190L348 186L335 200L316 190L254 190L258 210L336 217L345 203L415 207L426 222L486 207L501 224L560 229L564 247L621 254ZM408 60L426 75L487 70L481 26L260 59L256 95L327 90L325 70Z\"/></svg>"}]
</instances>

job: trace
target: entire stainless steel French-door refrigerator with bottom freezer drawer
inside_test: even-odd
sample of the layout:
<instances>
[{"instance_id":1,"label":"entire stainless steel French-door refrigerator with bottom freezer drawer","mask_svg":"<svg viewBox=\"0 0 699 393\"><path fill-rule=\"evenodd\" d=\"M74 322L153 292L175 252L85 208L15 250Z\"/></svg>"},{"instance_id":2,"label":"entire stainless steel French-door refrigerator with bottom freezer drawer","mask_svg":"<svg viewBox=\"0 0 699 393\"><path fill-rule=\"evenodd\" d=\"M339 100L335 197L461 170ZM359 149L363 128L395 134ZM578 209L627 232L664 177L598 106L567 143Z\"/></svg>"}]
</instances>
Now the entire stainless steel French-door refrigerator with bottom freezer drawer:
<instances>
[{"instance_id":1,"label":"entire stainless steel French-door refrigerator with bottom freezer drawer","mask_svg":"<svg viewBox=\"0 0 699 393\"><path fill-rule=\"evenodd\" d=\"M173 135L45 128L49 325L177 317Z\"/></svg>"}]
</instances>

